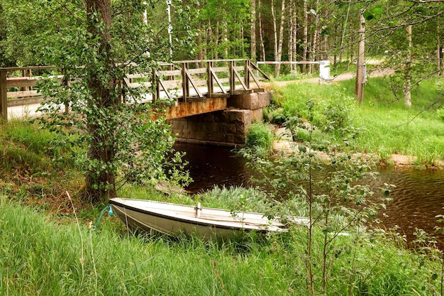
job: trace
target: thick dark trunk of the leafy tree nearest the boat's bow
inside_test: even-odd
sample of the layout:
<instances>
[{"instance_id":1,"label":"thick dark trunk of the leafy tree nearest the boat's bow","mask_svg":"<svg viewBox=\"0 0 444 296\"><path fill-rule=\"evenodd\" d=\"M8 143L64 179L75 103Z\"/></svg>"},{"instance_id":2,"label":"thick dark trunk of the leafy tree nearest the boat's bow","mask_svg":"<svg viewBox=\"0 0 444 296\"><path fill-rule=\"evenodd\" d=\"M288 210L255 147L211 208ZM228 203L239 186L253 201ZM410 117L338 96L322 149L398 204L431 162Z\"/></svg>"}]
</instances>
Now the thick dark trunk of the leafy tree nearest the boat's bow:
<instances>
[{"instance_id":1,"label":"thick dark trunk of the leafy tree nearest the boat's bow","mask_svg":"<svg viewBox=\"0 0 444 296\"><path fill-rule=\"evenodd\" d=\"M91 109L97 108L104 111L113 109L118 105L118 96L113 94L116 88L116 72L115 62L111 54L111 0L87 0L87 21L88 32L91 36L91 43L94 39L99 38L99 55L97 61L91 61L85 65L88 72L88 87L90 91L90 99L88 104ZM96 19L95 14L99 15ZM103 26L100 23L103 22ZM99 67L98 67L99 66ZM101 113L102 114L102 113ZM110 139L112 134L101 127L106 126L106 116L100 117L99 114L88 116L87 130L91 136L91 146L88 148L88 158L90 160L98 160L101 165L91 165L87 169L86 190L92 201L99 201L106 197L116 197L116 180L113 168L100 168L111 163L116 152L114 150L113 141ZM99 168L98 168L99 167Z\"/></svg>"}]
</instances>

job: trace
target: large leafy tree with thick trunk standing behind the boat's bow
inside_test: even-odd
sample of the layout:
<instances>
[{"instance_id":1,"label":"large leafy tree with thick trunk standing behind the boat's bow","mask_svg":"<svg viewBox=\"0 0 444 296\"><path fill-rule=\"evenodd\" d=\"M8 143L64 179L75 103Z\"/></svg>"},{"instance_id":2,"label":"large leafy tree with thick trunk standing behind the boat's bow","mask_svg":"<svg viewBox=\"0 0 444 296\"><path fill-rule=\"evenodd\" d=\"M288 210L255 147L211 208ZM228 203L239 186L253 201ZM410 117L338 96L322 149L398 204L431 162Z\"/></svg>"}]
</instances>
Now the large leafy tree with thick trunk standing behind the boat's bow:
<instances>
[{"instance_id":1,"label":"large leafy tree with thick trunk standing behind the boat's bow","mask_svg":"<svg viewBox=\"0 0 444 296\"><path fill-rule=\"evenodd\" d=\"M84 6L65 9L78 23L62 26L50 36L59 39L48 48L46 58L65 70L68 83L49 78L40 83L47 98L40 106L46 114L40 120L59 133L64 147L86 150L76 155L85 176L80 190L84 199L99 202L116 197L118 188L128 182L148 185L168 180L170 155L179 163L180 158L173 152L174 137L162 109L153 116L151 104L138 104L143 89L128 88L123 98L121 84L129 71L152 73L155 60L169 55L168 38L155 39L161 34L143 24L141 1L87 0ZM138 66L128 70L130 62ZM122 99L131 104L122 104ZM66 104L70 113L60 109ZM181 175L174 173L174 165L170 168L171 175ZM186 184L187 177L183 180Z\"/></svg>"}]
</instances>

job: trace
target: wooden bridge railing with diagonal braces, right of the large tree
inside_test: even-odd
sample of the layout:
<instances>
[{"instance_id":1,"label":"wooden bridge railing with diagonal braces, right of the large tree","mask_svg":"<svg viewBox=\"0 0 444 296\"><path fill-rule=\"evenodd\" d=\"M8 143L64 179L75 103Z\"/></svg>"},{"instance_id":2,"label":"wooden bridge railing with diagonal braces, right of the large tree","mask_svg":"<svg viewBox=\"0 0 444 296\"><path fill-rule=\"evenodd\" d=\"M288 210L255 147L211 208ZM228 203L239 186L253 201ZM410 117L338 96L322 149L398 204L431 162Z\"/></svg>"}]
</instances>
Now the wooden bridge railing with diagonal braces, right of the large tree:
<instances>
[{"instance_id":1,"label":"wooden bridge railing with diagonal braces, right of the large tree","mask_svg":"<svg viewBox=\"0 0 444 296\"><path fill-rule=\"evenodd\" d=\"M126 75L123 86L151 89L152 101L196 102L263 91L260 81L269 79L250 60L184 60L162 63L153 73Z\"/></svg>"}]
</instances>

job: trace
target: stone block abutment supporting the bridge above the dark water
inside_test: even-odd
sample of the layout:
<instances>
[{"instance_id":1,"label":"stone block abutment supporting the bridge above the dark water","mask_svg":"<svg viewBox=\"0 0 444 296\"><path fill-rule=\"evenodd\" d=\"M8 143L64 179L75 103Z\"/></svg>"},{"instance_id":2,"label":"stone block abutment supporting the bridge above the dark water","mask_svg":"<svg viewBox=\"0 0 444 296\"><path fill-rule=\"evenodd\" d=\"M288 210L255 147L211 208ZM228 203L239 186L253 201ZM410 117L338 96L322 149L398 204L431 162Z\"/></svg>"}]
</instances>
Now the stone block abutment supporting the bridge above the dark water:
<instances>
[{"instance_id":1,"label":"stone block abutment supporting the bridge above the dark water","mask_svg":"<svg viewBox=\"0 0 444 296\"><path fill-rule=\"evenodd\" d=\"M226 109L170 119L178 141L204 145L241 147L249 126L262 121L262 110L270 105L271 92L231 95Z\"/></svg>"}]
</instances>

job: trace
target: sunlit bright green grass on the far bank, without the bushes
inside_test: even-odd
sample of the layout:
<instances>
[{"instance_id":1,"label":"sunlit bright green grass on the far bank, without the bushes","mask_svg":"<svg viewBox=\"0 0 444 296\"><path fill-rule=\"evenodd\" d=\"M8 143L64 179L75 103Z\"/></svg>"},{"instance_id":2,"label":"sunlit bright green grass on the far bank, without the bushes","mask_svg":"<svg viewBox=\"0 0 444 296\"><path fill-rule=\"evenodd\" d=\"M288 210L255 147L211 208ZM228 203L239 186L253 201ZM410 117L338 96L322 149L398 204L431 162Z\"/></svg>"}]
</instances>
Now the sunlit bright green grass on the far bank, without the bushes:
<instances>
[{"instance_id":1,"label":"sunlit bright green grass on the far bank, without the bushes","mask_svg":"<svg viewBox=\"0 0 444 296\"><path fill-rule=\"evenodd\" d=\"M307 119L306 102L316 102L313 119L323 116L322 108L340 89L343 96L354 96L354 80L335 85L290 84L277 89L275 98L287 116L296 114ZM421 82L412 91L412 107L396 100L387 78L371 78L365 85L364 103L356 103L350 113L350 126L360 128L360 135L348 141L348 150L378 153L383 158L398 153L418 157L420 163L444 158L444 121L430 108L440 98L440 80ZM294 116L294 115L293 115ZM345 148L345 147L344 147Z\"/></svg>"}]
</instances>

